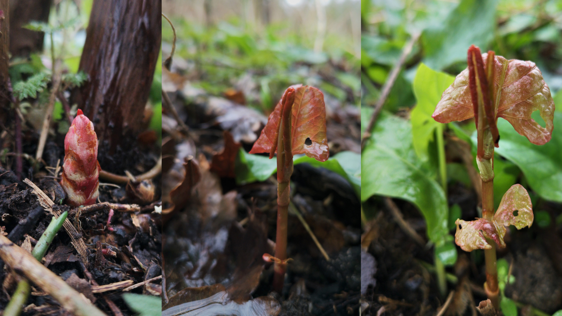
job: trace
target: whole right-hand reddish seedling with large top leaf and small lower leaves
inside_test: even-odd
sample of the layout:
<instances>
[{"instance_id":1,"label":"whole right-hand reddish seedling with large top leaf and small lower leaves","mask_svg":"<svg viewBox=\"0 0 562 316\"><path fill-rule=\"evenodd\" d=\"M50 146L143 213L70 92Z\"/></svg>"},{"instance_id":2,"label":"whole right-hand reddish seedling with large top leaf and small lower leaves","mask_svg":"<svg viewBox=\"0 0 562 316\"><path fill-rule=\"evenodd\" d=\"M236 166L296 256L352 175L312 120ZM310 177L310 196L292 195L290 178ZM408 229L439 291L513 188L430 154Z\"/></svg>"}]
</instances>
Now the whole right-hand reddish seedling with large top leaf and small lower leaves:
<instances>
[{"instance_id":1,"label":"whole right-hand reddish seedling with large top leaf and small lower leaves","mask_svg":"<svg viewBox=\"0 0 562 316\"><path fill-rule=\"evenodd\" d=\"M552 136L554 101L541 71L531 61L506 60L495 56L493 51L481 54L473 45L468 49L467 62L468 68L443 92L432 117L439 123L474 117L478 135L476 161L482 180L482 218L471 222L457 219L455 242L465 251L484 249L484 290L498 309L496 247L505 247L506 225L515 225L517 229L531 227L533 210L527 190L515 184L494 212L493 152L500 141L497 119L509 121L531 143L544 145ZM534 111L539 111L545 127L531 118Z\"/></svg>"}]
</instances>

